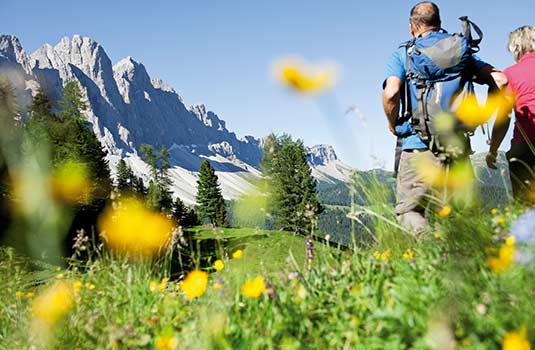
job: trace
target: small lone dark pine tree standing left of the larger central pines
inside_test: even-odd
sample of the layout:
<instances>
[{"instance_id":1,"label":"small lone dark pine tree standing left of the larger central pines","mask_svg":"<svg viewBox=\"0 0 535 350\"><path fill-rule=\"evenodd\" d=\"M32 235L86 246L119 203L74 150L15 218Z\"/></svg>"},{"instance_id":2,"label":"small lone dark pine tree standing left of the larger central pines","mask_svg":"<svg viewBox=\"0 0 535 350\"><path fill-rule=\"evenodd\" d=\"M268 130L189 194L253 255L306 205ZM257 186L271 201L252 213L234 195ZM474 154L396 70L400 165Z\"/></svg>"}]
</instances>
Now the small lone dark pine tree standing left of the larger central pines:
<instances>
[{"instance_id":1,"label":"small lone dark pine tree standing left of the larger central pines","mask_svg":"<svg viewBox=\"0 0 535 350\"><path fill-rule=\"evenodd\" d=\"M202 162L197 180L197 213L212 225L226 226L226 208L215 170L208 160Z\"/></svg>"}]
</instances>

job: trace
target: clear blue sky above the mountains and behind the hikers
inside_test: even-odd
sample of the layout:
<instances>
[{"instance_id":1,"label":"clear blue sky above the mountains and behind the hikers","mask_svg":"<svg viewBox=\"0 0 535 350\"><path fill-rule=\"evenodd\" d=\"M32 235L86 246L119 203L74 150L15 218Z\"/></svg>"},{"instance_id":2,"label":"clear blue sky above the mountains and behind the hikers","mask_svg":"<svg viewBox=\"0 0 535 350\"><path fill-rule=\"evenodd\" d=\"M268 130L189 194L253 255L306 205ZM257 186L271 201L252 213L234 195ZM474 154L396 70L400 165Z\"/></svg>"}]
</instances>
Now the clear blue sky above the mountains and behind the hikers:
<instances>
[{"instance_id":1,"label":"clear blue sky above the mountains and behind the hikers","mask_svg":"<svg viewBox=\"0 0 535 350\"><path fill-rule=\"evenodd\" d=\"M238 136L288 132L308 145L333 144L346 163L392 167L394 138L381 107L385 62L408 38L413 1L190 0L0 2L0 32L27 52L63 36L100 42L113 62L132 56L171 84L186 104L204 103ZM468 15L485 32L480 56L501 69L513 63L508 33L534 24L535 2L437 1L443 26L460 30ZM334 61L339 82L322 99L295 96L270 78L278 58ZM357 106L356 114L344 115ZM481 133L474 148L486 149ZM508 147L508 141L504 142Z\"/></svg>"}]
</instances>

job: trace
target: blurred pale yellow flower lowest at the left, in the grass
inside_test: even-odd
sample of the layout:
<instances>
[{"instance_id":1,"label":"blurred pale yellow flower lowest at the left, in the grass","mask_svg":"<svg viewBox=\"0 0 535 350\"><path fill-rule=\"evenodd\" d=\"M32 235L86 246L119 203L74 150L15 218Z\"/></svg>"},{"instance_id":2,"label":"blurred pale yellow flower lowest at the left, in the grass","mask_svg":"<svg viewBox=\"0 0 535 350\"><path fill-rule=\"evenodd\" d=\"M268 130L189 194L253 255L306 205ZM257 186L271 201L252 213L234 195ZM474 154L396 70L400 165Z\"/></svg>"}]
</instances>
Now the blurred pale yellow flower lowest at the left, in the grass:
<instances>
[{"instance_id":1,"label":"blurred pale yellow flower lowest at the left, in the grass","mask_svg":"<svg viewBox=\"0 0 535 350\"><path fill-rule=\"evenodd\" d=\"M54 327L72 308L72 284L58 281L43 290L32 302L34 325L47 330Z\"/></svg>"}]
</instances>

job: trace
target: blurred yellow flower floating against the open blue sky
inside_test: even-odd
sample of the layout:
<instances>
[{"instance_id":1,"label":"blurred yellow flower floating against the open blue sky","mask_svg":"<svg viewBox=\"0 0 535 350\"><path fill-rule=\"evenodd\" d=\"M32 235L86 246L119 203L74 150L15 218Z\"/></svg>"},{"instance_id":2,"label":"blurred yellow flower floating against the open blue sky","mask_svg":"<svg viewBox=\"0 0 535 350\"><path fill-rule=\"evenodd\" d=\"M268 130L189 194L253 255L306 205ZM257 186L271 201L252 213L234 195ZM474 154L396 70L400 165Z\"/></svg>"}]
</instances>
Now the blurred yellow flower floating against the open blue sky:
<instances>
[{"instance_id":1,"label":"blurred yellow flower floating against the open blue sky","mask_svg":"<svg viewBox=\"0 0 535 350\"><path fill-rule=\"evenodd\" d=\"M290 58L276 62L274 75L282 85L302 94L319 94L336 83L334 65L310 65L301 59Z\"/></svg>"}]
</instances>

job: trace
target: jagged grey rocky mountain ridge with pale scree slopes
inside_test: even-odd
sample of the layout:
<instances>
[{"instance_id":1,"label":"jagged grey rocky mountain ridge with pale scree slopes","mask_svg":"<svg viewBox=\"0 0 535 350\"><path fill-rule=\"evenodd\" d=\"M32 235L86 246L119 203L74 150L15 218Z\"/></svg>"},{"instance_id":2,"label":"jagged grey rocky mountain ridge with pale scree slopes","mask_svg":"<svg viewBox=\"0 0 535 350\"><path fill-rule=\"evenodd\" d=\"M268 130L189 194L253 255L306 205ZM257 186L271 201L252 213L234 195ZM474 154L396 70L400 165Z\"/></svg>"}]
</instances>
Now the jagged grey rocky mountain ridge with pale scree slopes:
<instances>
[{"instance_id":1,"label":"jagged grey rocky mountain ridge with pale scree slopes","mask_svg":"<svg viewBox=\"0 0 535 350\"><path fill-rule=\"evenodd\" d=\"M0 35L2 73L15 81L21 106L31 101L39 86L57 101L65 81L76 80L87 96L84 114L108 152L112 171L124 158L148 181L139 147L166 145L172 163L171 188L188 203L195 199L196 172L204 159L214 165L225 198L253 190L260 176L262 138L238 138L206 106L187 106L173 87L151 78L141 62L128 56L112 64L105 49L91 38L63 37L55 46L44 44L28 55L16 36ZM332 146L316 145L307 151L318 181L349 181L353 169L338 159Z\"/></svg>"}]
</instances>

